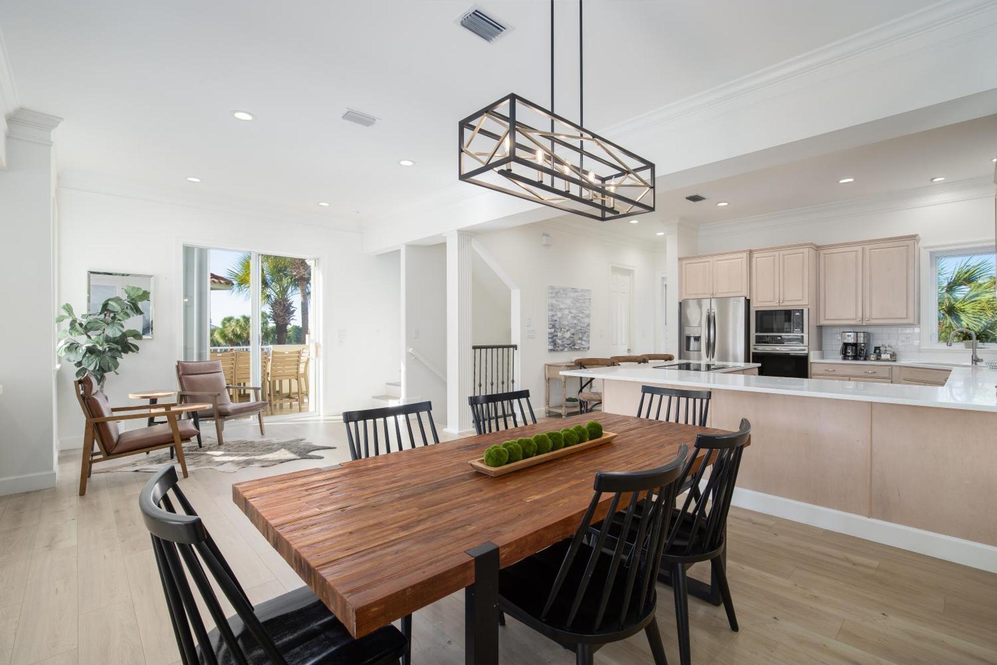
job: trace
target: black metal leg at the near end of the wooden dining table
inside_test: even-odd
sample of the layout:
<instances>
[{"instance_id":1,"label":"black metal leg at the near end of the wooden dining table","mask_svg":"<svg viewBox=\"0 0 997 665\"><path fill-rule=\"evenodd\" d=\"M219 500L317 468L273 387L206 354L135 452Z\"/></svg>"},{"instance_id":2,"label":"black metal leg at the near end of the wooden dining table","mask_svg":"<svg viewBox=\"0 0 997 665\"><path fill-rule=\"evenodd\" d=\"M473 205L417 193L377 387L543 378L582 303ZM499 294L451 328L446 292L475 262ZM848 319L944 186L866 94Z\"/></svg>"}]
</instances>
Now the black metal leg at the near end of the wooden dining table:
<instances>
[{"instance_id":1,"label":"black metal leg at the near end of the wooden dining table","mask_svg":"<svg viewBox=\"0 0 997 665\"><path fill-rule=\"evenodd\" d=\"M464 662L498 665L498 546L468 550L475 559L475 583L464 589Z\"/></svg>"}]
</instances>

